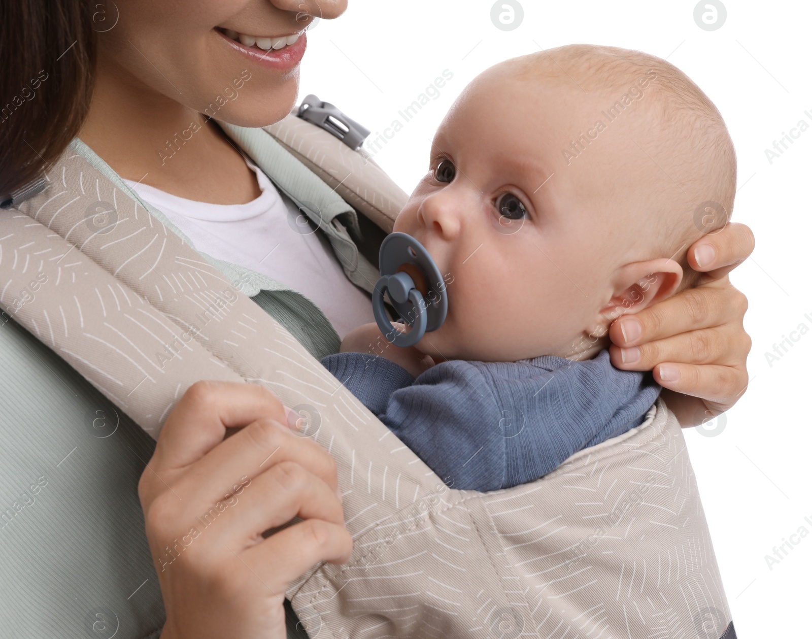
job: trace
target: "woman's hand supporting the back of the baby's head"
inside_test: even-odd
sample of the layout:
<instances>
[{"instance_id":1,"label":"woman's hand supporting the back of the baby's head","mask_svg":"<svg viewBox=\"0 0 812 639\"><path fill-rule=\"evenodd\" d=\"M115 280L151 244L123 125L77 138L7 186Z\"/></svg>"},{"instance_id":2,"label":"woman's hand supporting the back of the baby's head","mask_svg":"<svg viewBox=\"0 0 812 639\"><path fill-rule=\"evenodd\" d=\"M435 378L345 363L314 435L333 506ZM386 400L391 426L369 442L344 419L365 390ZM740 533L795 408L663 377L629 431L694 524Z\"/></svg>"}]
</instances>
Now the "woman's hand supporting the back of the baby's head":
<instances>
[{"instance_id":1,"label":"woman's hand supporting the back of the baby's head","mask_svg":"<svg viewBox=\"0 0 812 639\"><path fill-rule=\"evenodd\" d=\"M747 388L750 338L743 320L747 298L728 273L753 252L753 231L728 224L688 250L702 284L619 317L609 329L611 362L624 370L654 370L668 389L663 399L680 424L702 424L728 410Z\"/></svg>"}]
</instances>

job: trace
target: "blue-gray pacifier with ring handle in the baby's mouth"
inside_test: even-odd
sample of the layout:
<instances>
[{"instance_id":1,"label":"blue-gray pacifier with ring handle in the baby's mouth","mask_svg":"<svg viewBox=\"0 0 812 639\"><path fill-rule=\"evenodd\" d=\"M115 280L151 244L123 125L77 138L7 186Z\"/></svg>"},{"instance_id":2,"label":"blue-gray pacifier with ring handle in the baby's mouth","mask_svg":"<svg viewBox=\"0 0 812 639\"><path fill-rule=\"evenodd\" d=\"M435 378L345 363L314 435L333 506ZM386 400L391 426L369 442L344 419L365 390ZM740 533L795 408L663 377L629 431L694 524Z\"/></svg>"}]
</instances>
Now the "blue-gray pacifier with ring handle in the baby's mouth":
<instances>
[{"instance_id":1,"label":"blue-gray pacifier with ring handle in the baby's mouth","mask_svg":"<svg viewBox=\"0 0 812 639\"><path fill-rule=\"evenodd\" d=\"M427 332L442 326L448 311L443 275L423 245L406 233L390 233L378 254L381 278L372 294L375 322L388 342L407 348ZM401 333L392 326L383 306L389 293L392 306L411 327Z\"/></svg>"}]
</instances>

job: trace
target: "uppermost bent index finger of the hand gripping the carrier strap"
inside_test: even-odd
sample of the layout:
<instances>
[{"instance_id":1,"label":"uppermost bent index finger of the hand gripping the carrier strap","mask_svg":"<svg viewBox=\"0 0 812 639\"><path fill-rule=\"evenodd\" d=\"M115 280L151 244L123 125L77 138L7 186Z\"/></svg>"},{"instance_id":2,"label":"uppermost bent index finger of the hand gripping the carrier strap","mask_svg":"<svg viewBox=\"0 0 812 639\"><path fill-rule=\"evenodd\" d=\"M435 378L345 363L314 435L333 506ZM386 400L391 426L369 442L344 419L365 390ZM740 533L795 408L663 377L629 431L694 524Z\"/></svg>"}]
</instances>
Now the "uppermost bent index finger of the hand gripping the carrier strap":
<instances>
[{"instance_id":1,"label":"uppermost bent index finger of the hand gripping the carrier strap","mask_svg":"<svg viewBox=\"0 0 812 639\"><path fill-rule=\"evenodd\" d=\"M257 384L196 382L167 417L158 437L153 468L184 468L222 442L226 428L260 418L287 423L281 400Z\"/></svg>"}]
</instances>

